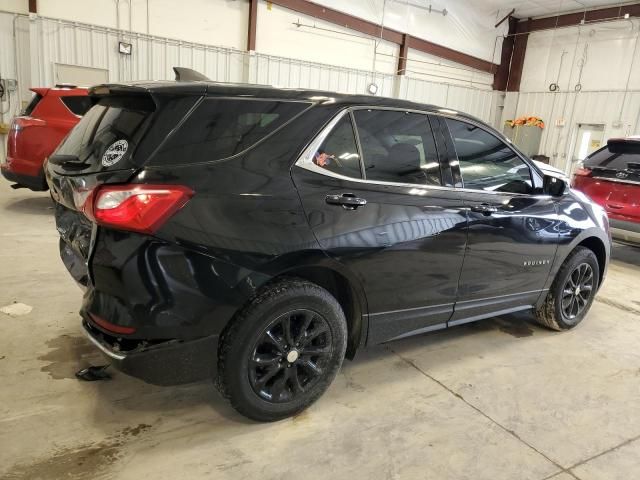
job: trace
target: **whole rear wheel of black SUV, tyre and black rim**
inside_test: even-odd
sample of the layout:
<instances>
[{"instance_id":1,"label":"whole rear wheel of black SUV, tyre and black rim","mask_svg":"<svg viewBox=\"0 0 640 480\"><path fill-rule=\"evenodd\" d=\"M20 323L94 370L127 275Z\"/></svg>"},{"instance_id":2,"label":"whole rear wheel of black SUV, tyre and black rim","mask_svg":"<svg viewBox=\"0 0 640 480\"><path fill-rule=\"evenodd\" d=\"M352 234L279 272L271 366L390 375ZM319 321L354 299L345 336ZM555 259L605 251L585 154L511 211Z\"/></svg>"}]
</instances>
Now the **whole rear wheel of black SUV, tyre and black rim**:
<instances>
[{"instance_id":1,"label":"whole rear wheel of black SUV, tyre and black rim","mask_svg":"<svg viewBox=\"0 0 640 480\"><path fill-rule=\"evenodd\" d=\"M282 279L262 289L223 334L216 384L242 415L280 420L325 392L346 345L337 300L314 283Z\"/></svg>"}]
</instances>

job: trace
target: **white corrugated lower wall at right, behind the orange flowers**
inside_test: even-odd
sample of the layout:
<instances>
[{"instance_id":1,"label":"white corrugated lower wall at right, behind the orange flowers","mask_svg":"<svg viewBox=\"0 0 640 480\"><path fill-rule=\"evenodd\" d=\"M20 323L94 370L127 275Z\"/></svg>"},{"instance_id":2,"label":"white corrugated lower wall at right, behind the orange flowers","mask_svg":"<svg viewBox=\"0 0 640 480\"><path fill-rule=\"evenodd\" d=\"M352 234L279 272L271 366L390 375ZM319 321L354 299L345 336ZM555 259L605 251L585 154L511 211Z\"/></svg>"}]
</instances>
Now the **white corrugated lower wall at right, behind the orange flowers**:
<instances>
[{"instance_id":1,"label":"white corrugated lower wall at right, behind the orange flowers","mask_svg":"<svg viewBox=\"0 0 640 480\"><path fill-rule=\"evenodd\" d=\"M569 171L579 123L604 125L605 140L640 133L640 92L507 93L502 121L523 115L545 121L540 153L550 157L554 166ZM556 125L557 121L564 125Z\"/></svg>"}]
</instances>

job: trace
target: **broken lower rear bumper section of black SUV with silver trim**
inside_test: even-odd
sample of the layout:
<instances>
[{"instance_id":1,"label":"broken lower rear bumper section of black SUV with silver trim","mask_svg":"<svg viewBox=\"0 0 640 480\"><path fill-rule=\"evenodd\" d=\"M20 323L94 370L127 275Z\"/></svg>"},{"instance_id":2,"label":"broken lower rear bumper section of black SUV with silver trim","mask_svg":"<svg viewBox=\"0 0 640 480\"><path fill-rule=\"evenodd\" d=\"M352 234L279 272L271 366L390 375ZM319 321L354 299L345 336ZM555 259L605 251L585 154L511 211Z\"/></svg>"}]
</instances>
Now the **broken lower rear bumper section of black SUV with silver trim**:
<instances>
[{"instance_id":1,"label":"broken lower rear bumper section of black SUV with silver trim","mask_svg":"<svg viewBox=\"0 0 640 480\"><path fill-rule=\"evenodd\" d=\"M180 385L217 374L218 335L195 340L167 340L148 344L138 342L121 348L120 339L93 327L86 319L82 327L111 364L123 373L153 385Z\"/></svg>"}]
</instances>

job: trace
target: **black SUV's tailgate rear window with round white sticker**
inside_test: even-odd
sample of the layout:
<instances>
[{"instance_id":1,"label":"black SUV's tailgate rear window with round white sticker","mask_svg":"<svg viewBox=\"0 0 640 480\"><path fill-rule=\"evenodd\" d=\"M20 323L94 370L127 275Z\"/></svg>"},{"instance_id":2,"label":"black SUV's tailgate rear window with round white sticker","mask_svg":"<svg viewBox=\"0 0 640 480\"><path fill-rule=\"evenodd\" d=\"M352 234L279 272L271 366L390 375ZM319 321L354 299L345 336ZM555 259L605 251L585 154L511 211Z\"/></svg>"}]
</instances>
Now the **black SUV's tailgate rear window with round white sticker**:
<instances>
[{"instance_id":1,"label":"black SUV's tailgate rear window with round white sticker","mask_svg":"<svg viewBox=\"0 0 640 480\"><path fill-rule=\"evenodd\" d=\"M126 153L118 160L117 167L114 165L122 168L130 161L154 110L155 104L147 96L101 98L71 130L56 155L75 156L78 163L99 165L107 148L124 140Z\"/></svg>"}]
</instances>

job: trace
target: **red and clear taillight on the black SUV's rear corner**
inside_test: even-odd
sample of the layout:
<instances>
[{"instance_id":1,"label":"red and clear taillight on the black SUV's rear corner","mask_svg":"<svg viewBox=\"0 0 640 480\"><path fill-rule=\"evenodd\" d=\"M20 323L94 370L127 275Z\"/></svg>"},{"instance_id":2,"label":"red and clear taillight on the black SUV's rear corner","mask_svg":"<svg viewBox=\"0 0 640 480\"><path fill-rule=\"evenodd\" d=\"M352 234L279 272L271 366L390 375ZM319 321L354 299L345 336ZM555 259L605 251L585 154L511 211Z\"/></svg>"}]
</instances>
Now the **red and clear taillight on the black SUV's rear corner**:
<instances>
[{"instance_id":1,"label":"red and clear taillight on the black SUV's rear corner","mask_svg":"<svg viewBox=\"0 0 640 480\"><path fill-rule=\"evenodd\" d=\"M98 225L151 234L192 196L182 185L103 185L82 211Z\"/></svg>"}]
</instances>

